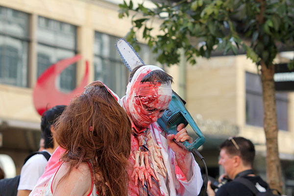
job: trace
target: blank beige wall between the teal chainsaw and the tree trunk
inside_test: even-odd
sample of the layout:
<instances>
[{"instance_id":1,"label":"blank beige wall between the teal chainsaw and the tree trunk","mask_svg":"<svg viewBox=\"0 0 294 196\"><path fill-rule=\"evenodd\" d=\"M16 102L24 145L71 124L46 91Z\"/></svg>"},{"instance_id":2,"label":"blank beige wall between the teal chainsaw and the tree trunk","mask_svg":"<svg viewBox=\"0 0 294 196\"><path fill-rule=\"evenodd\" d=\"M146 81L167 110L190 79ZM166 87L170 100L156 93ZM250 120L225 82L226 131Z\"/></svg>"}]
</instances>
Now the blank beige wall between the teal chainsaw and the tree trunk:
<instances>
[{"instance_id":1,"label":"blank beige wall between the teal chainsaw and the tree trunk","mask_svg":"<svg viewBox=\"0 0 294 196\"><path fill-rule=\"evenodd\" d=\"M187 67L187 107L192 116L236 124L235 58L200 58Z\"/></svg>"}]
</instances>

